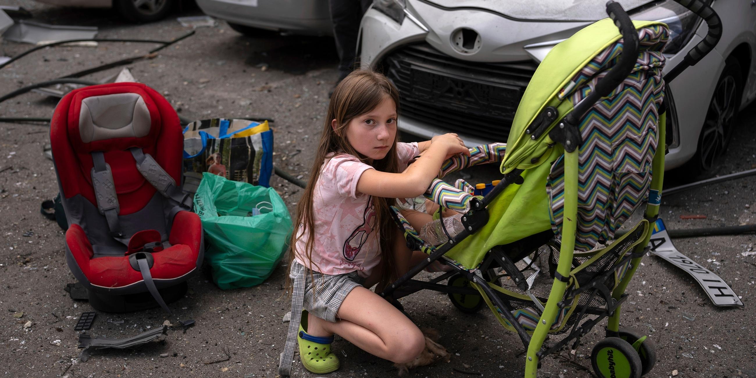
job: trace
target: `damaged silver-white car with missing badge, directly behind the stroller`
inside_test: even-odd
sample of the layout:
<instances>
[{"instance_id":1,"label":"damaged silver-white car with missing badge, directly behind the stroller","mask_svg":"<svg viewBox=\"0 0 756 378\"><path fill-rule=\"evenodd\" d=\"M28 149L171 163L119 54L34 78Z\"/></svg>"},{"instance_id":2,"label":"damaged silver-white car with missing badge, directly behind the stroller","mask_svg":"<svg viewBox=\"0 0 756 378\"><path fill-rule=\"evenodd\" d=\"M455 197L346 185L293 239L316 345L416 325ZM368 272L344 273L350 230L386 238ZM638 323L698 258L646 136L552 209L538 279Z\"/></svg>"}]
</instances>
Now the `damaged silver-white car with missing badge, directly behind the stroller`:
<instances>
[{"instance_id":1,"label":"damaged silver-white car with missing badge, directly behind the stroller","mask_svg":"<svg viewBox=\"0 0 756 378\"><path fill-rule=\"evenodd\" d=\"M634 20L671 29L665 73L706 36L672 0L619 0ZM469 146L507 141L530 77L554 45L606 17L604 0L376 0L361 23L361 64L401 92L404 132L457 132ZM711 4L711 0L709 0ZM711 173L733 119L756 98L756 0L715 1L723 36L671 82L668 169ZM495 125L495 126L494 126Z\"/></svg>"}]
</instances>

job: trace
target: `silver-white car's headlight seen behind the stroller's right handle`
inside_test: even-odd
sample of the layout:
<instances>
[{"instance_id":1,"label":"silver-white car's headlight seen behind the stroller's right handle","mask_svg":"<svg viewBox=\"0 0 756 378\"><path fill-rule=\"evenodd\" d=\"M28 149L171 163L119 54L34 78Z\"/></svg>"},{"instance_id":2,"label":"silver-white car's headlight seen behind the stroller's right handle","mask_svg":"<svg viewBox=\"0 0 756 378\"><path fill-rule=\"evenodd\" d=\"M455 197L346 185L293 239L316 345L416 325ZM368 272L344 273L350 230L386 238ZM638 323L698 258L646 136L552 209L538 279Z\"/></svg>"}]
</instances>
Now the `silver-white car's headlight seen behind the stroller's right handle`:
<instances>
[{"instance_id":1,"label":"silver-white car's headlight seen behind the stroller's right handle","mask_svg":"<svg viewBox=\"0 0 756 378\"><path fill-rule=\"evenodd\" d=\"M711 0L705 0L705 3L711 5ZM665 54L677 54L685 47L696 34L696 29L699 28L703 20L673 0L658 2L651 8L631 15L631 18L633 20L661 21L669 26L669 42L667 42L667 47L663 51Z\"/></svg>"}]
</instances>

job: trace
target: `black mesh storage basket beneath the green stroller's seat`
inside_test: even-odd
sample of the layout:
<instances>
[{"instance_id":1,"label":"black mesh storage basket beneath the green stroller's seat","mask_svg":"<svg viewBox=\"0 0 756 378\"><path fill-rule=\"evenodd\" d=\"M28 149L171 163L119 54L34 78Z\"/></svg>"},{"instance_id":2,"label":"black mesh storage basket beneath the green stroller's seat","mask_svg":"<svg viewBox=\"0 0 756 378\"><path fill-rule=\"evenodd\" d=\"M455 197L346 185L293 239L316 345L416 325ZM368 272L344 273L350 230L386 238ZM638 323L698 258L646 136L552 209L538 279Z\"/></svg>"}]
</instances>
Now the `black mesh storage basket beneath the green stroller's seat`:
<instances>
[{"instance_id":1,"label":"black mesh storage basket beneath the green stroller's seat","mask_svg":"<svg viewBox=\"0 0 756 378\"><path fill-rule=\"evenodd\" d=\"M572 258L571 274L575 276L578 287L582 287L589 283L595 277L605 274L615 268L615 264L621 259L622 256L631 254L634 252L634 246L645 235L646 228L643 224L639 224L622 240L618 240L612 245L603 249L597 249L586 253L575 253ZM551 293L551 286L554 282L554 271L556 271L556 265L559 262L559 246L554 244L545 244L538 248L530 265L523 269L522 275L525 276L525 281L530 286L530 292L541 302L546 303L549 294ZM590 262L594 256L600 255L597 259ZM628 265L629 260L624 263ZM618 269L616 274L618 279L621 280L624 277L624 272L627 271L627 266ZM503 290L497 290L496 293L503 302L510 306L513 313L516 314L516 319L525 327L526 330L534 330L535 324L540 318L540 312L535 308L534 303L531 300L520 299L516 296L527 296L527 293L520 290L514 283L512 277L507 274L500 275L494 279L494 282ZM615 274L609 274L604 280L604 285L613 290L618 283L615 280ZM565 296L562 297L562 301L568 296L571 289L575 288L575 282L571 282L570 286L565 290ZM503 291L503 292L502 292ZM590 303L588 302L590 299ZM577 305L575 306L575 302ZM569 311L572 306L575 306L574 311ZM587 308L586 308L587 306ZM562 311L559 312L559 317L554 321L551 326L550 333L559 334L564 333L575 324L576 321L581 321L581 313L584 313L584 308L587 311L601 311L601 308L606 306L606 300L603 296L595 295L593 298L590 296L590 291L583 292L572 299L572 304L567 305ZM497 308L497 311L500 311ZM570 314L569 316L565 316Z\"/></svg>"}]
</instances>

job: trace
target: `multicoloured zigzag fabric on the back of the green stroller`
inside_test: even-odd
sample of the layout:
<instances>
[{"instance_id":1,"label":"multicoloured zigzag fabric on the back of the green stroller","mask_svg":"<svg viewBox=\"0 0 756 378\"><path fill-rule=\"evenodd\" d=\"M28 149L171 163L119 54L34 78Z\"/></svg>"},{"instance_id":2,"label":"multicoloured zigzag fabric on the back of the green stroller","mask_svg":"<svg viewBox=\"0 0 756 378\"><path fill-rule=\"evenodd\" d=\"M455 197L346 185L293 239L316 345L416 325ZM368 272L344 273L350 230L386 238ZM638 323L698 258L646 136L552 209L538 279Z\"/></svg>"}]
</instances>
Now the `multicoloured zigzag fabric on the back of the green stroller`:
<instances>
[{"instance_id":1,"label":"multicoloured zigzag fabric on the back of the green stroller","mask_svg":"<svg viewBox=\"0 0 756 378\"><path fill-rule=\"evenodd\" d=\"M579 129L578 228L575 249L587 251L612 240L615 231L648 195L657 146L658 106L662 103L660 51L669 37L664 26L638 31L640 52L633 73L612 94L591 108ZM560 98L578 104L590 94L607 69L617 63L620 39L577 73ZM564 156L551 167L547 180L551 223L560 237L564 210Z\"/></svg>"}]
</instances>

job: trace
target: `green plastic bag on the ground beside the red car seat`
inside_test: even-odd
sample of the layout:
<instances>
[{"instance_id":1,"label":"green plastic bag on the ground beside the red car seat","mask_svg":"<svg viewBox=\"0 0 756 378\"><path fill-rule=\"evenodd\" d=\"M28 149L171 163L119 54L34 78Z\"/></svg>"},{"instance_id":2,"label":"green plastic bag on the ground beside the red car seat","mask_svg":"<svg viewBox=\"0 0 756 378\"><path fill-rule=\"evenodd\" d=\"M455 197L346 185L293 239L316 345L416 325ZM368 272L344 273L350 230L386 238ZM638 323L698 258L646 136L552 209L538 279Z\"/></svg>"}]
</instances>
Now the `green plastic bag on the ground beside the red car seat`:
<instances>
[{"instance_id":1,"label":"green plastic bag on the ground beside the red car seat","mask_svg":"<svg viewBox=\"0 0 756 378\"><path fill-rule=\"evenodd\" d=\"M194 194L194 212L209 243L205 259L212 279L223 290L259 285L289 246L291 216L272 187L205 172Z\"/></svg>"}]
</instances>

